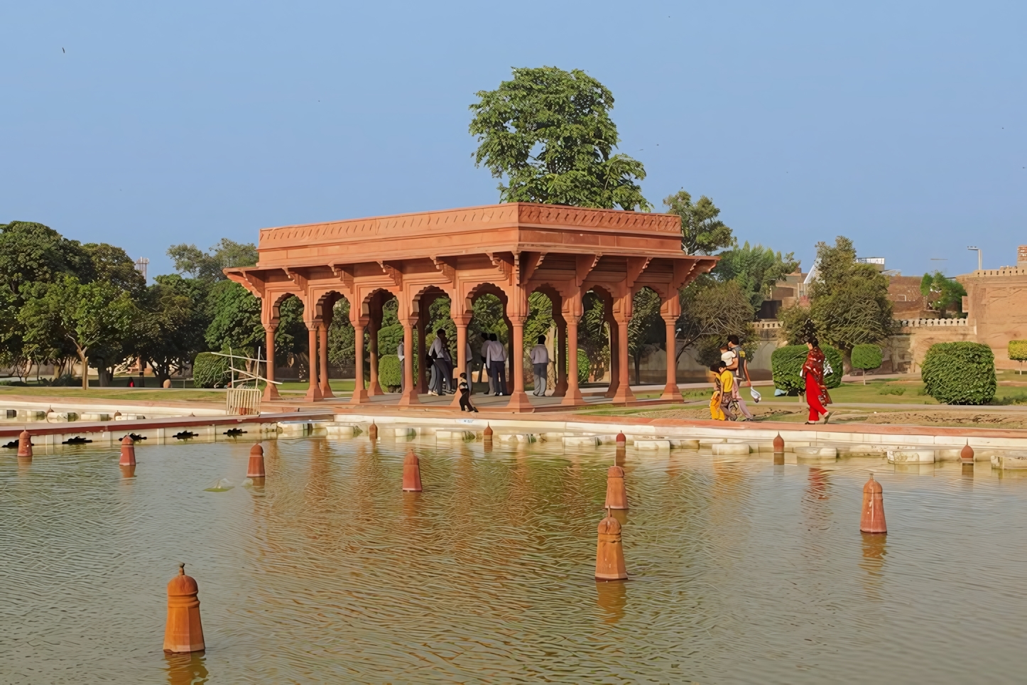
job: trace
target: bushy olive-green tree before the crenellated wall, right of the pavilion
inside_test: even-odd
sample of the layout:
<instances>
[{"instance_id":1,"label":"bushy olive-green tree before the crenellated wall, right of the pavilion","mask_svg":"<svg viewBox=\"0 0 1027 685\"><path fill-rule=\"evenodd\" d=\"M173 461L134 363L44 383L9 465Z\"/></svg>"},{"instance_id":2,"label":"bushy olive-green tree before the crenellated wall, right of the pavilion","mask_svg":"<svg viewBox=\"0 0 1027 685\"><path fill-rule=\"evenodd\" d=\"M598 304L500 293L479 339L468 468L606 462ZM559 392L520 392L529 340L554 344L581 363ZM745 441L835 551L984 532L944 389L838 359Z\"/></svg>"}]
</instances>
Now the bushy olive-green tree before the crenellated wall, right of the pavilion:
<instances>
[{"instance_id":1,"label":"bushy olive-green tree before the crenellated wall, right of the pavilion","mask_svg":"<svg viewBox=\"0 0 1027 685\"><path fill-rule=\"evenodd\" d=\"M834 245L816 243L814 268L806 316L821 342L841 349L850 364L852 347L880 344L893 331L888 278L872 264L857 262L855 248L844 236L838 236ZM792 327L802 320L802 312L782 310L779 318L789 339L801 336Z\"/></svg>"}]
</instances>

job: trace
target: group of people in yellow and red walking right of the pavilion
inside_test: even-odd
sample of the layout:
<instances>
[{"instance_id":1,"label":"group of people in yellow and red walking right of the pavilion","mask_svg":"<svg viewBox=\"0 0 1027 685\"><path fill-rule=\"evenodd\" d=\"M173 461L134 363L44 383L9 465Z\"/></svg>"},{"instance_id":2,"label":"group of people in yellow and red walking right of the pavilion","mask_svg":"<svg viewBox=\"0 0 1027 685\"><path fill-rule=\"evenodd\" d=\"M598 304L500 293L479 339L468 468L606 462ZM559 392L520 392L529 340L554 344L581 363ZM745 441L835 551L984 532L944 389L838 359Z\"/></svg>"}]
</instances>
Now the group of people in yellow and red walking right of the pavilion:
<instances>
[{"instance_id":1,"label":"group of people in yellow and red walking right of the pavilion","mask_svg":"<svg viewBox=\"0 0 1027 685\"><path fill-rule=\"evenodd\" d=\"M806 405L809 407L809 418L806 423L827 423L831 418L831 412L826 406L831 404L831 395L828 394L824 377L831 373L831 368L827 366L825 369L827 359L812 332L807 333L806 348L808 349L806 359L799 372L805 380ZM718 421L752 421L753 414L746 406L746 401L739 391L741 383L749 384L754 401L759 402L760 395L752 389L753 380L746 366L746 351L738 344L737 336L727 337L727 342L720 347L720 360L712 365L710 371L714 377L710 416Z\"/></svg>"}]
</instances>

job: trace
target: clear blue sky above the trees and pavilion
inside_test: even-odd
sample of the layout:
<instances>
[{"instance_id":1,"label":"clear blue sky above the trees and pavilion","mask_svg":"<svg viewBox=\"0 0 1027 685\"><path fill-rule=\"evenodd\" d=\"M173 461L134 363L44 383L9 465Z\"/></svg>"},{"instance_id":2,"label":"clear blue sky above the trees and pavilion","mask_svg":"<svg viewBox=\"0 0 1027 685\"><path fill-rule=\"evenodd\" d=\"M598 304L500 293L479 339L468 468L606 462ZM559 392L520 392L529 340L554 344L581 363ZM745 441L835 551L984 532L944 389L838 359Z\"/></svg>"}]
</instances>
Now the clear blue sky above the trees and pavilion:
<instances>
[{"instance_id":1,"label":"clear blue sky above the trees and pavilion","mask_svg":"<svg viewBox=\"0 0 1027 685\"><path fill-rule=\"evenodd\" d=\"M716 6L715 6L716 5ZM646 196L739 240L844 234L950 275L1027 243L1025 3L0 4L0 221L167 245L487 204L473 93L515 66L616 98ZM64 51L62 51L64 48ZM931 261L931 258L948 261Z\"/></svg>"}]
</instances>

